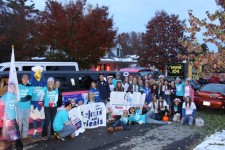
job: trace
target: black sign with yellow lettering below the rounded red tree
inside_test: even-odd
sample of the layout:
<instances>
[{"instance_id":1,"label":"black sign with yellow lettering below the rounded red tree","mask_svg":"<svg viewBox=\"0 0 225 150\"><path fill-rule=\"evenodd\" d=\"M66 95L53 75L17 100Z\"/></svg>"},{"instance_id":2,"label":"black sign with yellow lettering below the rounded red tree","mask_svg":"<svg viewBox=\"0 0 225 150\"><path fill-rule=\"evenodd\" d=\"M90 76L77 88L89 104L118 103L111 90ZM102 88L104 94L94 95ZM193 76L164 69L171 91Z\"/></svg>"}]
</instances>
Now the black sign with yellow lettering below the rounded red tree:
<instances>
[{"instance_id":1,"label":"black sign with yellow lettering below the rounded red tree","mask_svg":"<svg viewBox=\"0 0 225 150\"><path fill-rule=\"evenodd\" d=\"M184 79L185 77L185 64L169 64L168 65L168 77L179 77Z\"/></svg>"}]
</instances>

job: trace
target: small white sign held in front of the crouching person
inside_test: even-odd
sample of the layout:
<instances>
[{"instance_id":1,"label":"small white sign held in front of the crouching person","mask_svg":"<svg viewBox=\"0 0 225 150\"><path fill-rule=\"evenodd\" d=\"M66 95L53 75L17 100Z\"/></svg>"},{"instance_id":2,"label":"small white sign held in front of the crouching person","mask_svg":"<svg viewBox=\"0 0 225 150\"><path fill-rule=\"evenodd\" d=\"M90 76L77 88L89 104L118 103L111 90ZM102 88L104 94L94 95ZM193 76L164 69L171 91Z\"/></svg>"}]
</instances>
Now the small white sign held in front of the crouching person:
<instances>
[{"instance_id":1,"label":"small white sign held in front of the crouching person","mask_svg":"<svg viewBox=\"0 0 225 150\"><path fill-rule=\"evenodd\" d=\"M78 136L80 133L85 131L83 121L82 121L80 107L75 107L69 111L69 119L71 123L75 126L75 135Z\"/></svg>"}]
</instances>

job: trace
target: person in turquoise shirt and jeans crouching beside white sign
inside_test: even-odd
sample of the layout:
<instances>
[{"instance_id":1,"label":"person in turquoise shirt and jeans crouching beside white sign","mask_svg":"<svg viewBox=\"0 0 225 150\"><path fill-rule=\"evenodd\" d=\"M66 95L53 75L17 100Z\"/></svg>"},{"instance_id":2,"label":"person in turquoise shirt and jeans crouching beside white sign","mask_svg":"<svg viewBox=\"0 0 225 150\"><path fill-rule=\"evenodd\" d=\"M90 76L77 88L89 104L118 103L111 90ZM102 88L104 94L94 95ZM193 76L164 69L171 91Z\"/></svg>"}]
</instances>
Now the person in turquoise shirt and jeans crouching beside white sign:
<instances>
[{"instance_id":1,"label":"person in turquoise shirt and jeans crouching beside white sign","mask_svg":"<svg viewBox=\"0 0 225 150\"><path fill-rule=\"evenodd\" d=\"M66 136L75 137L75 127L69 121L68 111L71 110L73 104L68 101L65 106L58 110L53 121L54 135L57 139L64 141Z\"/></svg>"}]
</instances>

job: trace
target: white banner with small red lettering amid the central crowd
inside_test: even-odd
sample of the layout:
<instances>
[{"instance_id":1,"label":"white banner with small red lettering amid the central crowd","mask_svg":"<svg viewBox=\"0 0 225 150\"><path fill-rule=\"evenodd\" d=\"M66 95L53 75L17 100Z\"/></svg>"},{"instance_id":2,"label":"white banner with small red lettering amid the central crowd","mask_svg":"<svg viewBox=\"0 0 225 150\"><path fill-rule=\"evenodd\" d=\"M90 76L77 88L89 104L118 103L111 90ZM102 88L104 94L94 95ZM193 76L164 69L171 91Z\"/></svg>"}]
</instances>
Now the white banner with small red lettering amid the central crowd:
<instances>
[{"instance_id":1,"label":"white banner with small red lettering amid the central crowd","mask_svg":"<svg viewBox=\"0 0 225 150\"><path fill-rule=\"evenodd\" d=\"M142 107L145 102L146 94L140 92L126 93L114 92L110 93L110 107L112 114L121 115L123 110L128 110L130 107Z\"/></svg>"}]
</instances>

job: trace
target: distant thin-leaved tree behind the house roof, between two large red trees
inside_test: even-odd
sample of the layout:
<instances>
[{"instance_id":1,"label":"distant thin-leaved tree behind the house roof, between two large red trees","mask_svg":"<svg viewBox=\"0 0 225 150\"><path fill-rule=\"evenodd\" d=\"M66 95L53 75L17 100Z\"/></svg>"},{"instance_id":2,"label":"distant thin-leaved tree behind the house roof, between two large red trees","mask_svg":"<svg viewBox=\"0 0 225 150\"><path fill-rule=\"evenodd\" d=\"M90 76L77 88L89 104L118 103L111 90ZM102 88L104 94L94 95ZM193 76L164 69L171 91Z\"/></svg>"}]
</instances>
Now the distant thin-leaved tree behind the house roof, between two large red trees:
<instances>
[{"instance_id":1,"label":"distant thin-leaved tree behind the house roof, between two large red trees","mask_svg":"<svg viewBox=\"0 0 225 150\"><path fill-rule=\"evenodd\" d=\"M116 44L121 45L123 55L134 55L141 47L141 33L121 33L116 37Z\"/></svg>"}]
</instances>

